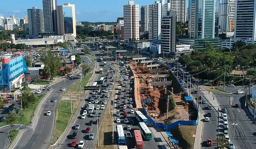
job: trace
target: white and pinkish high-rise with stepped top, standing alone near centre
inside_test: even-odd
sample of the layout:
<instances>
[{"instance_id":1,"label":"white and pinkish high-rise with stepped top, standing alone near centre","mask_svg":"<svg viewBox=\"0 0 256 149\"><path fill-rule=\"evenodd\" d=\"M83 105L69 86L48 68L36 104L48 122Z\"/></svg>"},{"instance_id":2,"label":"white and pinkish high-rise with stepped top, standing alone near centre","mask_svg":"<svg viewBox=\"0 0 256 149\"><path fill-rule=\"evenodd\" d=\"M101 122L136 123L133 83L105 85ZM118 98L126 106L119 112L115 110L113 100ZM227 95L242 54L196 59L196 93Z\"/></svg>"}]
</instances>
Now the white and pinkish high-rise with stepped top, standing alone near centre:
<instances>
[{"instance_id":1,"label":"white and pinkish high-rise with stepped top, standing alone near centre","mask_svg":"<svg viewBox=\"0 0 256 149\"><path fill-rule=\"evenodd\" d=\"M139 5L129 0L128 5L123 6L124 13L124 40L140 39Z\"/></svg>"}]
</instances>

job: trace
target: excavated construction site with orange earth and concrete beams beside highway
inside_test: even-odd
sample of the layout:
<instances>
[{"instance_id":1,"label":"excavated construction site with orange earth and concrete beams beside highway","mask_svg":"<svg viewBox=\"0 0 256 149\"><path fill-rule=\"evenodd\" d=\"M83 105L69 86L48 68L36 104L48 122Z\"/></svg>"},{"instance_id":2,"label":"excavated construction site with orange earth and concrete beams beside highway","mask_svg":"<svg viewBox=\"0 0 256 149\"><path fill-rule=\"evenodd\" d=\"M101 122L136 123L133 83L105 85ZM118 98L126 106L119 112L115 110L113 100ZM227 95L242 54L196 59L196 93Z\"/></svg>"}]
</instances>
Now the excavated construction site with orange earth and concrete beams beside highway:
<instances>
[{"instance_id":1,"label":"excavated construction site with orange earth and concrete beams beside highway","mask_svg":"<svg viewBox=\"0 0 256 149\"><path fill-rule=\"evenodd\" d=\"M195 110L184 100L175 79L163 66L154 60L146 60L146 57L132 58L128 65L134 74L137 109L145 107L155 122L169 124L178 120L191 120L190 116L194 115Z\"/></svg>"}]
</instances>

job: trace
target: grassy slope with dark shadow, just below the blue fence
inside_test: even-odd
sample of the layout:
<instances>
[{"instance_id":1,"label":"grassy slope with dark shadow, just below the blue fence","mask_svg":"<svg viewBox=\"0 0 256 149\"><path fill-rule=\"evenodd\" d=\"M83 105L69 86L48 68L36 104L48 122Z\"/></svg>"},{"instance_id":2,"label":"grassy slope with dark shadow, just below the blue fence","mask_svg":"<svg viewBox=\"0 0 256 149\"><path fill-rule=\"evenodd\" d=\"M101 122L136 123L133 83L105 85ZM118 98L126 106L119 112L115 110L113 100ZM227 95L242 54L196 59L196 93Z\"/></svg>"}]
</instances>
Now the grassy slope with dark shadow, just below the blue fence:
<instances>
[{"instance_id":1,"label":"grassy slope with dark shadow, just below the blue fence","mask_svg":"<svg viewBox=\"0 0 256 149\"><path fill-rule=\"evenodd\" d=\"M196 126L178 126L171 130L172 135L179 141L182 149L192 149L194 146Z\"/></svg>"}]
</instances>

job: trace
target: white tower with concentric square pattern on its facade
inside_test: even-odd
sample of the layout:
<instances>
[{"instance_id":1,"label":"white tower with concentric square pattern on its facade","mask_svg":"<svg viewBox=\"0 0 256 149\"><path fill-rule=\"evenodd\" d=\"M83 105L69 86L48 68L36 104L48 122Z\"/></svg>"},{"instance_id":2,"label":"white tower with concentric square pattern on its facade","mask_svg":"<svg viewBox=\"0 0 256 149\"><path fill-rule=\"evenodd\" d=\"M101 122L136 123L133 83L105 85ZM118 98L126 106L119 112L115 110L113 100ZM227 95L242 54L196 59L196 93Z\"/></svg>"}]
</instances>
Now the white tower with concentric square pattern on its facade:
<instances>
[{"instance_id":1,"label":"white tower with concentric square pattern on its facade","mask_svg":"<svg viewBox=\"0 0 256 149\"><path fill-rule=\"evenodd\" d=\"M221 0L219 24L220 24L220 30L226 34L234 34L235 10L236 10L236 0ZM233 33L230 33L230 32L233 32Z\"/></svg>"}]
</instances>

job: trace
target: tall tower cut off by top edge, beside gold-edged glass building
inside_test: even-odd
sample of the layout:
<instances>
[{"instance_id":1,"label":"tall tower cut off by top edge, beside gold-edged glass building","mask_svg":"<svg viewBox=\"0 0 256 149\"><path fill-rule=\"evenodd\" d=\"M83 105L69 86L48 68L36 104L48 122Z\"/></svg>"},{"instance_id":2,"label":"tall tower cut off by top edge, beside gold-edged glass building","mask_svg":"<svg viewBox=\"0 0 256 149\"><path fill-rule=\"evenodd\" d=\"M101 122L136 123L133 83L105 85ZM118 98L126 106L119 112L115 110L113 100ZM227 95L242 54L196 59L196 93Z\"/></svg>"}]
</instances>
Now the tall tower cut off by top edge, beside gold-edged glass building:
<instances>
[{"instance_id":1,"label":"tall tower cut off by top edge, beside gold-edged glass building","mask_svg":"<svg viewBox=\"0 0 256 149\"><path fill-rule=\"evenodd\" d=\"M57 33L57 0L43 0L44 32Z\"/></svg>"}]
</instances>

